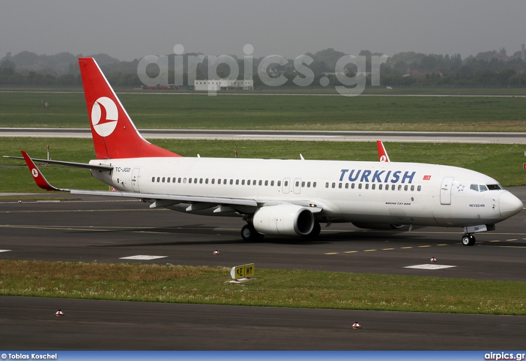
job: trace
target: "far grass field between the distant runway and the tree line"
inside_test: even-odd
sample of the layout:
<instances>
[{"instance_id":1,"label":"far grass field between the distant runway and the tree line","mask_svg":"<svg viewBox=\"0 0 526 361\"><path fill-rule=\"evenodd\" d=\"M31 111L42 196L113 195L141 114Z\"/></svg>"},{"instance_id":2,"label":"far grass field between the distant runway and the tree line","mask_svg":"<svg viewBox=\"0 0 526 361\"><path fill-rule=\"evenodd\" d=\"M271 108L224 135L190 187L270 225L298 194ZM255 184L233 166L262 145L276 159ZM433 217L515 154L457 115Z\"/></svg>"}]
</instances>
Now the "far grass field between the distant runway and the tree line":
<instances>
[{"instance_id":1,"label":"far grass field between the distant runway and the tree line","mask_svg":"<svg viewBox=\"0 0 526 361\"><path fill-rule=\"evenodd\" d=\"M526 99L513 97L210 97L140 93L120 94L119 98L138 128L526 130ZM42 108L42 101L49 102L50 107ZM0 127L87 128L88 122L82 92L0 93Z\"/></svg>"}]
</instances>

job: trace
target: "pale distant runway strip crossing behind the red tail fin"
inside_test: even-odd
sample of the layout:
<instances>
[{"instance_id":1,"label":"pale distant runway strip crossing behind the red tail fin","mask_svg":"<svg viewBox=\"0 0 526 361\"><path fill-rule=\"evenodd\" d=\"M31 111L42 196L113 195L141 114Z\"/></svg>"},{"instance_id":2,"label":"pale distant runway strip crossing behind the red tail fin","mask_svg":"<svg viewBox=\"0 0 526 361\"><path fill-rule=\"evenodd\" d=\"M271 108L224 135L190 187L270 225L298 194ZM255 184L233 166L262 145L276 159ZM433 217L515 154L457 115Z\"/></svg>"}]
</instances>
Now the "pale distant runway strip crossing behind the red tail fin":
<instances>
[{"instance_id":1,"label":"pale distant runway strip crossing behind the red tail fin","mask_svg":"<svg viewBox=\"0 0 526 361\"><path fill-rule=\"evenodd\" d=\"M526 144L526 133L139 129L147 139L393 141ZM91 138L89 129L0 128L0 137Z\"/></svg>"}]
</instances>

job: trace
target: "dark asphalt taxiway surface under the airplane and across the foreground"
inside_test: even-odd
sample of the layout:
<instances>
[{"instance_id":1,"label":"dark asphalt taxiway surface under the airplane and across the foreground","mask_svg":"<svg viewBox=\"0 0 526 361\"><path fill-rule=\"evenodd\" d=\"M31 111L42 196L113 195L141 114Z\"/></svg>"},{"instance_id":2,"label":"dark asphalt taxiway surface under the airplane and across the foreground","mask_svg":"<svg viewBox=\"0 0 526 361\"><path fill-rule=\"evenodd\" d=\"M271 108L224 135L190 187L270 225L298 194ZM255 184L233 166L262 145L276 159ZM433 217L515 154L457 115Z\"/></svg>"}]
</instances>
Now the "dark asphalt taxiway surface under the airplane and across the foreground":
<instances>
[{"instance_id":1,"label":"dark asphalt taxiway surface under the airplane and across the foreground","mask_svg":"<svg viewBox=\"0 0 526 361\"><path fill-rule=\"evenodd\" d=\"M526 200L526 187L510 190ZM136 200L38 197L44 201L0 200L0 259L227 267L254 262L257 268L526 281L522 213L478 234L472 247L460 244L459 229L379 232L347 224L324 228L314 241L266 236L246 243L240 219L150 210ZM121 259L133 255L163 258ZM454 267L405 268L431 257ZM54 316L58 308L65 317ZM525 319L0 297L0 337L13 349L521 349ZM356 321L362 329L350 327Z\"/></svg>"}]
</instances>

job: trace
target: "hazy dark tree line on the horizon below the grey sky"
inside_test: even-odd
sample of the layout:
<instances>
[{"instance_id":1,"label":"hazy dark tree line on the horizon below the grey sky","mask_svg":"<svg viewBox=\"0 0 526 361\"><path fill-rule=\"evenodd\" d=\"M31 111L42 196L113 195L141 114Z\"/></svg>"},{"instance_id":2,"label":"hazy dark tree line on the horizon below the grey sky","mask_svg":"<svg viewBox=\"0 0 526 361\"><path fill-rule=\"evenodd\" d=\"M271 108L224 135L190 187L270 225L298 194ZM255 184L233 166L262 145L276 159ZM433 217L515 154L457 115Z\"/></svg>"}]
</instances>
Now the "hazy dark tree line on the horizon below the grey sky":
<instances>
[{"instance_id":1,"label":"hazy dark tree line on the horizon below the grey sky","mask_svg":"<svg viewBox=\"0 0 526 361\"><path fill-rule=\"evenodd\" d=\"M48 68L38 68L32 64L41 64L38 56L34 53L23 52L25 57L17 57L17 54L11 57L11 54L4 57L0 62L0 86L27 86L27 87L82 87L78 63L76 57L72 54L60 54L60 69L53 70L51 67L53 59L46 58ZM29 54L29 55L28 55ZM69 55L67 55L69 54ZM197 56L199 54L185 54L184 69L188 69L188 56ZM313 61L307 67L312 70L314 80L311 86L320 87L320 79L327 77L329 80L328 87L341 85L335 75L336 61L345 55L341 51L332 48L320 50L317 53L307 53ZM380 53L371 53L368 50L362 50L359 55L366 57L366 84L371 84L371 57L373 55L382 55ZM508 87L508 86L526 86L526 63L521 59L520 51L512 56L505 55L505 51L487 51L479 53L477 56L470 56L462 59L460 54L454 55L435 55L421 54L414 52L398 53L389 57L385 64L380 67L380 86L381 87ZM57 55L58 56L58 55ZM82 56L82 55L80 55ZM138 88L142 85L137 75L137 65L139 60L118 61L105 54L94 56L104 71L106 78L115 87ZM243 78L244 60L237 59L239 66L239 77ZM71 61L72 63L67 63ZM22 60L23 59L23 60ZM29 59L29 60L28 60ZM58 58L56 58L58 59ZM31 61L30 61L31 60ZM265 87L264 82L259 79L257 68L261 58L252 60L252 74L254 87ZM17 61L20 66L17 66ZM57 60L58 61L58 60ZM29 64L24 66L23 64ZM48 65L50 64L50 65ZM169 56L169 64L174 69L174 56ZM193 86L193 81L188 84L188 79L208 79L207 59L191 69L191 73L186 71L183 74L184 85ZM347 76L355 76L358 69L356 66L348 65L346 67ZM155 66L148 67L147 73L155 77L159 70ZM62 74L61 74L62 73ZM217 74L225 78L230 73L230 68L226 64L220 64L217 68ZM270 77L284 76L287 80L283 87L294 86L294 79L298 74L294 67L294 59L290 59L285 65L274 64L267 68L267 75ZM168 82L174 79L173 70L168 72Z\"/></svg>"}]
</instances>

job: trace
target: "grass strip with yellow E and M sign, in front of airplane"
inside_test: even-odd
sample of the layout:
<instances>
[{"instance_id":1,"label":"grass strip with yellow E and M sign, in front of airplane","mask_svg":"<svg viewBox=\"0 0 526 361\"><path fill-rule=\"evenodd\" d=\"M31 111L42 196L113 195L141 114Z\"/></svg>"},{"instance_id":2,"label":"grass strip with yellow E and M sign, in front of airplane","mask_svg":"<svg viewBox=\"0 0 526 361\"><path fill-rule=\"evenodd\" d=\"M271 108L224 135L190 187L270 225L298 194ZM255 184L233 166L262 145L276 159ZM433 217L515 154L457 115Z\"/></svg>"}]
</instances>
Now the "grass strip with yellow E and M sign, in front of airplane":
<instances>
[{"instance_id":1,"label":"grass strip with yellow E and M sign, in front of airplane","mask_svg":"<svg viewBox=\"0 0 526 361\"><path fill-rule=\"evenodd\" d=\"M0 261L0 294L220 305L525 315L524 282L300 270Z\"/></svg>"}]
</instances>

